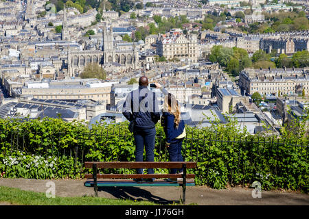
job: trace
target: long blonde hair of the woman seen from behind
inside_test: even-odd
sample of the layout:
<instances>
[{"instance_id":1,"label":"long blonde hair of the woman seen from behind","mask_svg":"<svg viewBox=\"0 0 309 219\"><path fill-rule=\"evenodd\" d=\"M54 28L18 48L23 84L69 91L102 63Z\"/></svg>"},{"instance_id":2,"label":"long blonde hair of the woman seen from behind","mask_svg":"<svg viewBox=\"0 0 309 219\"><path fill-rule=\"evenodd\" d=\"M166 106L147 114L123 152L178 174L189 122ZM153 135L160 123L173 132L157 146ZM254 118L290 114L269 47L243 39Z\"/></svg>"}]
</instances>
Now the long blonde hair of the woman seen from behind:
<instances>
[{"instance_id":1,"label":"long blonde hair of the woman seen from behind","mask_svg":"<svg viewBox=\"0 0 309 219\"><path fill-rule=\"evenodd\" d=\"M176 129L178 129L181 121L181 110L176 97L171 93L164 97L163 112L169 112L175 116L174 123L176 124Z\"/></svg>"}]
</instances>

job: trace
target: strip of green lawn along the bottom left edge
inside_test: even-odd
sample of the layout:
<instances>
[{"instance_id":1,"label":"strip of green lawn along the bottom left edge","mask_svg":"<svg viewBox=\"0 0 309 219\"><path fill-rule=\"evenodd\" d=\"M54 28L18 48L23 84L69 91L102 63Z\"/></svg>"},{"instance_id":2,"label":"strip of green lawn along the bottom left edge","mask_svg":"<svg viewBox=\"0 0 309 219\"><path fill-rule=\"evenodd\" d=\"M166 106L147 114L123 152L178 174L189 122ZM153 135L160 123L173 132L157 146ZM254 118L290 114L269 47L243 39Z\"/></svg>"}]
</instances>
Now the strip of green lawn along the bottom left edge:
<instances>
[{"instance_id":1,"label":"strip of green lawn along the bottom left edge","mask_svg":"<svg viewBox=\"0 0 309 219\"><path fill-rule=\"evenodd\" d=\"M150 201L130 201L93 196L47 198L45 193L0 186L0 202L14 205L157 205Z\"/></svg>"}]
</instances>

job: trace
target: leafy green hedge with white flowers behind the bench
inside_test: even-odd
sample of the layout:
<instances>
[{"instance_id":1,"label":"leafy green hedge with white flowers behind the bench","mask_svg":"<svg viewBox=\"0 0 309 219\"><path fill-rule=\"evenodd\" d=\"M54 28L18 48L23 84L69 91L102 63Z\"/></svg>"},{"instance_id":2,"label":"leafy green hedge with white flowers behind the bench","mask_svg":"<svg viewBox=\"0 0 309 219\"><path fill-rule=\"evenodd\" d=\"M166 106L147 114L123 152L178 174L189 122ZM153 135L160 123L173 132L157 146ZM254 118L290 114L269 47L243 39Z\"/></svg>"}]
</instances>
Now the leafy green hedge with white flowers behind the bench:
<instances>
[{"instance_id":1,"label":"leafy green hedge with white flowers behind the bench","mask_svg":"<svg viewBox=\"0 0 309 219\"><path fill-rule=\"evenodd\" d=\"M304 128L304 127L300 127ZM158 124L155 161L168 161L165 135ZM197 185L225 188L260 181L263 190L278 188L308 192L308 137L304 131L258 136L240 131L238 124L186 127L185 161L198 162ZM299 130L299 129L298 129ZM0 171L3 177L33 179L80 178L85 161L135 161L128 123L95 125L60 119L0 120ZM51 165L52 164L52 165ZM104 170L133 172L135 170ZM167 170L155 170L166 172Z\"/></svg>"}]
</instances>

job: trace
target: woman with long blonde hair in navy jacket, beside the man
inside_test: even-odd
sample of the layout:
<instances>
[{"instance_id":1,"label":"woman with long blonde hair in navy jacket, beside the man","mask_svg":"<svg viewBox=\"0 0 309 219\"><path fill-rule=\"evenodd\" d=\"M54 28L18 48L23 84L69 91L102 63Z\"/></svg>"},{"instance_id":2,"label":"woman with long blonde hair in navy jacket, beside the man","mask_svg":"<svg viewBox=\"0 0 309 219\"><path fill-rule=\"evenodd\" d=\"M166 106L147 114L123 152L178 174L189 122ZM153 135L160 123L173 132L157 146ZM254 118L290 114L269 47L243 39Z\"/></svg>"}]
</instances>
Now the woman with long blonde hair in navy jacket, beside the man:
<instances>
[{"instance_id":1,"label":"woman with long blonde hair in navy jacket, beside the man","mask_svg":"<svg viewBox=\"0 0 309 219\"><path fill-rule=\"evenodd\" d=\"M168 93L164 97L163 115L161 123L166 136L166 147L171 162L183 162L181 146L185 138L185 123L181 120L181 111L173 94ZM183 169L171 169L170 174L183 173ZM175 179L169 179L175 181Z\"/></svg>"}]
</instances>

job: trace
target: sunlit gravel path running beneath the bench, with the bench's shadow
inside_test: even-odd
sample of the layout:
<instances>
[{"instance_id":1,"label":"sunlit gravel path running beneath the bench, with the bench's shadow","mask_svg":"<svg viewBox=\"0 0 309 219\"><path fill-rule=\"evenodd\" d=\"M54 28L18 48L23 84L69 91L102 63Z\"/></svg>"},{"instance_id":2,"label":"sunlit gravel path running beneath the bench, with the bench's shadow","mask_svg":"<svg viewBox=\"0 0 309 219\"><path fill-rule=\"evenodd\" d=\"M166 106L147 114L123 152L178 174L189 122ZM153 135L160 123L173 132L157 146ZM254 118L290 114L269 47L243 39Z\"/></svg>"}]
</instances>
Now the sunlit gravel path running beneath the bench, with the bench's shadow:
<instances>
[{"instance_id":1,"label":"sunlit gravel path running beneath the bench, with the bench's shadow","mask_svg":"<svg viewBox=\"0 0 309 219\"><path fill-rule=\"evenodd\" d=\"M93 188L84 186L83 180L56 179L0 179L0 186L20 188L34 192L46 192L46 183L53 181L56 196L93 196ZM308 194L284 191L262 191L262 198L252 197L253 188L229 188L214 190L205 186L187 187L186 203L198 205L309 205ZM131 198L167 204L179 201L182 196L181 187L139 187L139 188L103 188L98 196L104 198ZM0 205L9 205L0 203Z\"/></svg>"}]
</instances>

